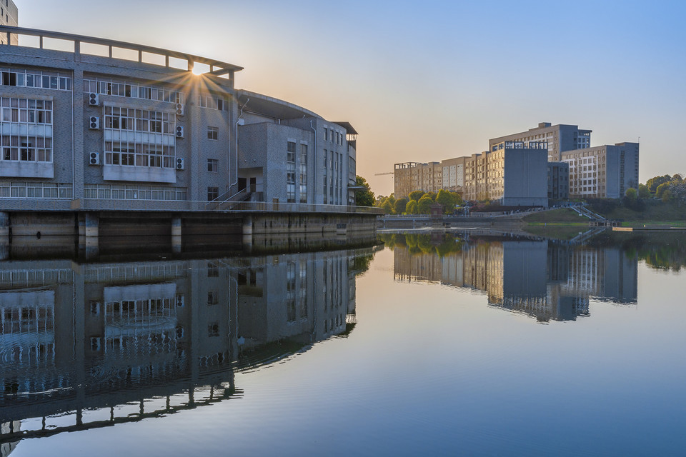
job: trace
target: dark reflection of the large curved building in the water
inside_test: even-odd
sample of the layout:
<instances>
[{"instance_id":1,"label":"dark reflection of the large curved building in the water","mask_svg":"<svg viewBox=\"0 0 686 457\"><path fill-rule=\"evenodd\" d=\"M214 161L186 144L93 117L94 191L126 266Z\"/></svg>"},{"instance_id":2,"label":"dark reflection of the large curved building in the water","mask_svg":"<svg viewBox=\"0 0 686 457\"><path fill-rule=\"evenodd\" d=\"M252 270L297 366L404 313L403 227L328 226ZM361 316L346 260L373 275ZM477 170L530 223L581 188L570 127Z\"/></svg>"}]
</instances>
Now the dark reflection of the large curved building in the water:
<instances>
[{"instance_id":1,"label":"dark reflection of the large curved building in the water","mask_svg":"<svg viewBox=\"0 0 686 457\"><path fill-rule=\"evenodd\" d=\"M360 256L0 263L1 456L239 396L235 372L347 336Z\"/></svg>"}]
</instances>

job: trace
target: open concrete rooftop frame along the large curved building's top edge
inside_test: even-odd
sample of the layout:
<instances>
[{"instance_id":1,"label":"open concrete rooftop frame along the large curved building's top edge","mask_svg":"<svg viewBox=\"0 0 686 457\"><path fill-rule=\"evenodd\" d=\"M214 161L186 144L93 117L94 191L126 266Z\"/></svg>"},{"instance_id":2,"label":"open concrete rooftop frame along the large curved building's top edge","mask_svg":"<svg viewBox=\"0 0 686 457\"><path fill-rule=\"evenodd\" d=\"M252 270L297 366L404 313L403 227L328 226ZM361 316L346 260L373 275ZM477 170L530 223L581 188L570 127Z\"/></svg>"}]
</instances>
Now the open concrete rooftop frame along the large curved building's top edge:
<instances>
[{"instance_id":1,"label":"open concrete rooftop frame along the large curved building's top edge","mask_svg":"<svg viewBox=\"0 0 686 457\"><path fill-rule=\"evenodd\" d=\"M234 64L229 64L227 62L222 62L218 61L215 59L208 59L207 57L202 57L202 56L196 56L194 54L186 54L184 52L179 52L179 51L171 51L169 49L162 49L162 48L156 48L153 46L145 46L142 44L134 44L134 43L127 43L126 41L116 41L116 40L110 40L110 39L102 39L102 38L96 38L94 36L84 36L84 35L76 35L76 34L66 34L64 32L58 32L58 31L48 31L48 30L40 30L40 29L26 29L24 27L13 27L13 26L0 26L0 33L6 34L7 36L7 43L11 43L11 36L16 35L19 36L20 38L23 36L36 36L38 37L38 47L39 49L53 49L53 50L62 50L64 46L69 47L72 46L71 52L73 52L76 56L79 56L80 54L89 54L89 55L94 55L94 56L101 56L99 53L95 52L88 52L86 49L82 49L82 44L88 44L88 45L95 45L95 46L102 46L101 49L104 48L106 50L106 56L109 56L110 59L115 58L114 56L114 51L120 51L120 50L126 50L126 51L134 51L137 53L137 59L130 59L129 57L125 56L116 56L117 59L121 58L124 60L137 60L139 63L143 64L153 64L153 65L162 65L167 68L171 69L180 69L180 70L186 70L186 71L193 71L194 65L195 64L204 64L209 66L209 72L208 74L212 74L214 76L222 76L225 74L231 74L234 71L241 71L243 67L237 66ZM46 39L49 40L59 40L59 44L61 46L58 47L49 47L46 46ZM8 44L6 46L24 46L24 44ZM59 48L59 49L58 49ZM164 64L159 64L157 61L155 61L155 56L158 58L161 57L164 59ZM180 61L186 61L187 67L184 68L179 68L178 66L172 65L174 62L172 61L170 64L169 59L179 59Z\"/></svg>"}]
</instances>

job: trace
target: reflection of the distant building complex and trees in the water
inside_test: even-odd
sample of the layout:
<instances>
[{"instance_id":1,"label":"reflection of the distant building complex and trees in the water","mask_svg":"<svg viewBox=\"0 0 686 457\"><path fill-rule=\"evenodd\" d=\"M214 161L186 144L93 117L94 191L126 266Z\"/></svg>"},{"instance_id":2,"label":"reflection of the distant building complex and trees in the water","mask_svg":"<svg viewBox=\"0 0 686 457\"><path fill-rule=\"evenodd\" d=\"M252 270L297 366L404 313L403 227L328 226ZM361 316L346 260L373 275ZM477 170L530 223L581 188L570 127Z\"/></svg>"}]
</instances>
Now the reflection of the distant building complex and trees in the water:
<instances>
[{"instance_id":1,"label":"reflection of the distant building complex and trees in the water","mask_svg":"<svg viewBox=\"0 0 686 457\"><path fill-rule=\"evenodd\" d=\"M589 316L589 298L637 301L637 259L617 246L592 248L516 237L425 237L400 236L392 243L397 281L477 289L487 294L489 305L542 322Z\"/></svg>"}]
</instances>

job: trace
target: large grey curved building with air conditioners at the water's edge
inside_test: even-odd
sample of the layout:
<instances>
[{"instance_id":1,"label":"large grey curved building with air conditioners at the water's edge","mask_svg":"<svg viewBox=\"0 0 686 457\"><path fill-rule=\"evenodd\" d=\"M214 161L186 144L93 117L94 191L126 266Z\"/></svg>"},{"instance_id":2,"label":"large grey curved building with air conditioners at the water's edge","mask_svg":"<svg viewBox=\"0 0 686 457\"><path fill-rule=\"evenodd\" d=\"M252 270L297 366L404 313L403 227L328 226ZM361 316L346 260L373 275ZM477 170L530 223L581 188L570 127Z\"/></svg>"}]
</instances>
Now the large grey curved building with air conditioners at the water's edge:
<instances>
[{"instance_id":1,"label":"large grey curved building with air conditioners at the water's edge","mask_svg":"<svg viewBox=\"0 0 686 457\"><path fill-rule=\"evenodd\" d=\"M352 200L352 126L234 89L239 66L51 31L0 34L40 38L37 48L0 46L4 211L109 200L118 209L206 209L242 190L242 199L270 203Z\"/></svg>"}]
</instances>

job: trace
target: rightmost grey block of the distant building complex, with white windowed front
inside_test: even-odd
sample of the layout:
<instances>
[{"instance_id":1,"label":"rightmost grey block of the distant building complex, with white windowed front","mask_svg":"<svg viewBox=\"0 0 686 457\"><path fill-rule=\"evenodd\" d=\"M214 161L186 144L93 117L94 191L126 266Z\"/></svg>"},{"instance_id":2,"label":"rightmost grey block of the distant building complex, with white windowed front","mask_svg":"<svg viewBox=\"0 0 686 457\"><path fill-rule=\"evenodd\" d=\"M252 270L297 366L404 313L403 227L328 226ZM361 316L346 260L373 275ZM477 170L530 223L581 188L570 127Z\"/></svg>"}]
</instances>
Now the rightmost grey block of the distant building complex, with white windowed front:
<instances>
[{"instance_id":1,"label":"rightmost grey block of the distant building complex, with white windowed front","mask_svg":"<svg viewBox=\"0 0 686 457\"><path fill-rule=\"evenodd\" d=\"M638 143L594 146L562 153L570 166L570 196L620 199L638 186Z\"/></svg>"}]
</instances>

